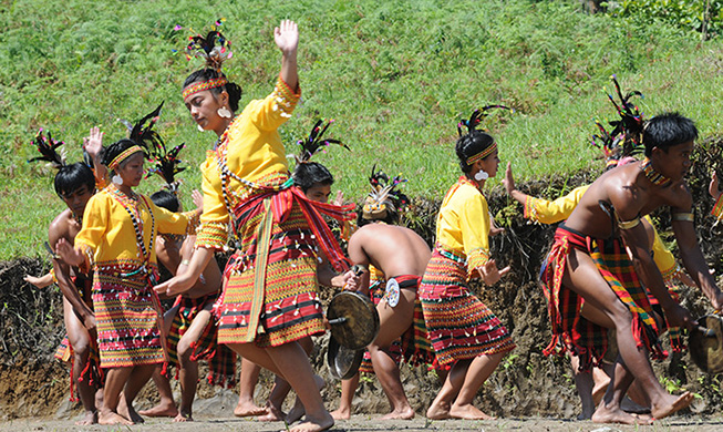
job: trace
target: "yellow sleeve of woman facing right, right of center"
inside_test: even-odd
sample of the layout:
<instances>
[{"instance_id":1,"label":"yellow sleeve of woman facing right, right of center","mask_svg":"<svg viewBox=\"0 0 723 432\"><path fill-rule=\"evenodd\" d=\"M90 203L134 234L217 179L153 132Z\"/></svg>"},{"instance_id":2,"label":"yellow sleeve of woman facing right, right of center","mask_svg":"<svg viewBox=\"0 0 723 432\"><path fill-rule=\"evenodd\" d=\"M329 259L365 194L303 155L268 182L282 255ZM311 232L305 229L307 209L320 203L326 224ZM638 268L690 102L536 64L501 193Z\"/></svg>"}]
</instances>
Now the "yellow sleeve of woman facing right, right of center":
<instances>
[{"instance_id":1,"label":"yellow sleeve of woman facing right, right of center","mask_svg":"<svg viewBox=\"0 0 723 432\"><path fill-rule=\"evenodd\" d=\"M459 230L467 256L468 277L489 260L489 210L482 194L472 196L459 210Z\"/></svg>"}]
</instances>

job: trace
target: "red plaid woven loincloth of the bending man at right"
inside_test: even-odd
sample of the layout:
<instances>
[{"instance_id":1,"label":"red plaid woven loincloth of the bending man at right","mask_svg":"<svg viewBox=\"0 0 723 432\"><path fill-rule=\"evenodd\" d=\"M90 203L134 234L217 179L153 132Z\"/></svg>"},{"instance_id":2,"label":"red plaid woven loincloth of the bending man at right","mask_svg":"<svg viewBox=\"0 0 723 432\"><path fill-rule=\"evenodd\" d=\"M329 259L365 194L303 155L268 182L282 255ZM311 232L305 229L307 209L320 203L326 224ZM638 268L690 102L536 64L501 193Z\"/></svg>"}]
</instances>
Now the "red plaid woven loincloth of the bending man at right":
<instances>
[{"instance_id":1,"label":"red plaid woven loincloth of the bending man at right","mask_svg":"<svg viewBox=\"0 0 723 432\"><path fill-rule=\"evenodd\" d=\"M571 248L590 255L616 296L628 307L632 313L632 333L638 346L645 347L653 358L664 358L667 353L658 340L658 327L651 315L650 301L622 241L619 238L589 238L564 224L555 233L555 244L541 275L552 326L552 340L544 353L549 356L570 351L580 357L581 368L587 370L590 366L598 366L608 349L607 329L582 318L582 298L562 285Z\"/></svg>"}]
</instances>

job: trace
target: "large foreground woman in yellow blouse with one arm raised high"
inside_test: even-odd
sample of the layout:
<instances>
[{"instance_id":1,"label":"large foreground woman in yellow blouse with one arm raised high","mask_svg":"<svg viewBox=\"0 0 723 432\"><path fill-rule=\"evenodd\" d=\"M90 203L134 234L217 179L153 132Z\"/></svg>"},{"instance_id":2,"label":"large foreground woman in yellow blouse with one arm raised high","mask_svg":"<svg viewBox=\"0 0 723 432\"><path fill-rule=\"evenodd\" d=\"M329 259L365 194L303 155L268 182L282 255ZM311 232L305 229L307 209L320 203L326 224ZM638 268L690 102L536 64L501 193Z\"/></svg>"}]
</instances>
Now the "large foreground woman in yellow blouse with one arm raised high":
<instances>
[{"instance_id":1,"label":"large foreground woman in yellow blouse with one arm raised high","mask_svg":"<svg viewBox=\"0 0 723 432\"><path fill-rule=\"evenodd\" d=\"M220 69L186 79L184 102L190 115L219 140L200 167L204 214L196 250L186 270L156 290L176 295L188 289L214 253L226 247L231 222L241 247L225 270L216 310L218 342L283 377L307 413L306 422L291 430L312 432L330 428L333 419L321 400L320 379L298 341L324 331L316 246L338 271L345 264L320 212L337 218L344 218L345 212L310 202L293 186L278 127L300 96L297 24L282 21L273 37L282 52L276 88L266 99L249 102L238 116L234 113L240 93L233 91L235 84Z\"/></svg>"}]
</instances>

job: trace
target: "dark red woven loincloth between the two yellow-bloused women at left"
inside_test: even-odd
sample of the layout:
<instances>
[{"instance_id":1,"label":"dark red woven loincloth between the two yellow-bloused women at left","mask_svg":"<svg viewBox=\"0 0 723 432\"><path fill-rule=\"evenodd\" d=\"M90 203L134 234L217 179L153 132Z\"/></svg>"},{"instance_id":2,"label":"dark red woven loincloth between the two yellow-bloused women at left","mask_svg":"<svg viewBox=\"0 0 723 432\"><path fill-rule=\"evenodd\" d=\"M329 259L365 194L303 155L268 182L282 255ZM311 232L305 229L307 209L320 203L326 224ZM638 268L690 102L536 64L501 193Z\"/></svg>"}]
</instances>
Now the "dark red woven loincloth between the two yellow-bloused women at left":
<instances>
[{"instance_id":1,"label":"dark red woven loincloth between the two yellow-bloused women at left","mask_svg":"<svg viewBox=\"0 0 723 432\"><path fill-rule=\"evenodd\" d=\"M178 307L176 315L173 317L171 330L168 331L168 362L178 368L178 342L186 333L190 323L196 319L198 313L213 305L218 298L218 294L209 294L198 298L188 298L178 296L174 308ZM198 340L190 344L192 361L208 361L208 383L230 389L236 385L236 353L226 346L219 346L218 326L211 316ZM176 369L177 370L177 369ZM176 372L176 378L177 378Z\"/></svg>"}]
</instances>

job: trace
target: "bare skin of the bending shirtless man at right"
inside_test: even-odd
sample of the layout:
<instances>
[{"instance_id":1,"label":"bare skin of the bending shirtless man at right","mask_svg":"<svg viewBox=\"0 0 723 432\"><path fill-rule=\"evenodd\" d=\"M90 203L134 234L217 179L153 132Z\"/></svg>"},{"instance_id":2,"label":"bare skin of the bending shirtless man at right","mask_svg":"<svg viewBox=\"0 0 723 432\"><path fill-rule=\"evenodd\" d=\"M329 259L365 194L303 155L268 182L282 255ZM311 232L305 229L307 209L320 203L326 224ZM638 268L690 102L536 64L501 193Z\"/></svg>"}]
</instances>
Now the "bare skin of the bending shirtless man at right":
<instances>
[{"instance_id":1,"label":"bare skin of the bending shirtless man at right","mask_svg":"<svg viewBox=\"0 0 723 432\"><path fill-rule=\"evenodd\" d=\"M671 179L669 185L654 185L650 182L641 169L641 163L629 164L603 174L590 186L566 222L569 228L595 238L609 238L619 234L642 285L648 287L659 300L670 325L688 329L695 327L696 323L688 310L670 297L660 270L650 255L649 236L643 224L620 229L598 203L600 200L610 203L622 222L633 220L661 206L670 207L672 214L691 213L692 196L683 176L690 168L692 150L693 142L671 146L667 151L652 148L649 157L653 168ZM723 294L707 271L693 224L673 219L672 226L688 272L711 300L712 306L717 309L723 305ZM593 421L640 422L620 410L620 401L633 377L640 380L641 387L647 391L647 397L651 401L651 412L655 419L670 415L692 402L693 397L689 392L674 397L660 385L650 367L648 352L638 348L632 337L630 311L602 278L589 255L571 249L562 282L585 298L582 315L587 319L602 327L616 329L620 348L614 374L602 403L592 415Z\"/></svg>"}]
</instances>

